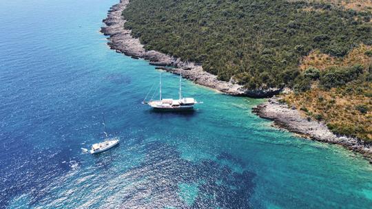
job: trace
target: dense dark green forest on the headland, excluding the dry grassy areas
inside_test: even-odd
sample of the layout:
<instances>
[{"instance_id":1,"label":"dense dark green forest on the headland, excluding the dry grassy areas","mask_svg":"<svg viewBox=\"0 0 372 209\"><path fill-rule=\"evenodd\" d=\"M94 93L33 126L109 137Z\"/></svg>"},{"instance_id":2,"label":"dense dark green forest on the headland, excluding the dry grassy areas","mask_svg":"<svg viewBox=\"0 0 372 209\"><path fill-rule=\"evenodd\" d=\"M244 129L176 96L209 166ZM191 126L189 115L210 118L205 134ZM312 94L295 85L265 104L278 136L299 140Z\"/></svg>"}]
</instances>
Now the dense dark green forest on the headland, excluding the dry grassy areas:
<instances>
[{"instance_id":1,"label":"dense dark green forest on the headland, excluding the dry grassy areas","mask_svg":"<svg viewBox=\"0 0 372 209\"><path fill-rule=\"evenodd\" d=\"M132 0L123 15L148 50L201 63L251 89L292 87L300 58L313 49L344 56L372 44L371 13L326 3Z\"/></svg>"}]
</instances>

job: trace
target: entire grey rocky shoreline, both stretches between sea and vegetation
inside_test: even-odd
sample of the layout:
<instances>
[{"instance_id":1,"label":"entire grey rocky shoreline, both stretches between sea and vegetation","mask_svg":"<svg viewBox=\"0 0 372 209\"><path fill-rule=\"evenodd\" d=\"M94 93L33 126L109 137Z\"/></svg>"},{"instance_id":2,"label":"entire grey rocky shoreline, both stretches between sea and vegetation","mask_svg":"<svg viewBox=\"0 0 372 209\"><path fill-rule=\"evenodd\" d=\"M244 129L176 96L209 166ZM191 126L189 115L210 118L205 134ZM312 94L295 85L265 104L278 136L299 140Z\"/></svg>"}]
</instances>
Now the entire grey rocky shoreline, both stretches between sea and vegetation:
<instances>
[{"instance_id":1,"label":"entire grey rocky shoreline, both stretches between sea and vegetation","mask_svg":"<svg viewBox=\"0 0 372 209\"><path fill-rule=\"evenodd\" d=\"M225 94L234 96L249 96L251 98L269 98L279 94L282 89L256 89L247 90L242 85L221 81L217 76L203 71L201 65L195 63L183 62L179 58L174 58L154 50L146 51L138 39L131 35L130 30L125 30L123 25L122 12L125 10L129 0L121 0L120 3L113 5L108 11L107 18L103 20L105 27L101 32L109 36L107 45L118 53L123 53L132 58L143 58L149 61L150 65L156 65L157 69L163 69L174 74L182 74L184 78L194 81L199 85L216 89ZM171 68L172 67L172 68ZM276 126L285 128L293 133L331 144L340 144L349 150L362 153L370 159L372 163L372 146L361 140L351 137L337 136L322 122L307 120L302 117L297 109L287 107L287 104L280 104L278 98L271 98L268 102L259 104L252 111L261 118L273 120Z\"/></svg>"}]
</instances>

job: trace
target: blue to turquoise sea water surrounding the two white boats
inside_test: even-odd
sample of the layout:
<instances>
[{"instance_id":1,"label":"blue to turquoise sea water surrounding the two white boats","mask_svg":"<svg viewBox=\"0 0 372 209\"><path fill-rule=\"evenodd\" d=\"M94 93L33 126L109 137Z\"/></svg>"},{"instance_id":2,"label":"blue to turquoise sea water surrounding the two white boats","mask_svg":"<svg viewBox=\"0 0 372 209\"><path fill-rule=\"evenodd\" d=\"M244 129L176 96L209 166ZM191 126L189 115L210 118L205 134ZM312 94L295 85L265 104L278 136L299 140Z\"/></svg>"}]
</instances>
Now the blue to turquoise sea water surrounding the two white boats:
<instances>
[{"instance_id":1,"label":"blue to turquoise sea water surrounding the two white boats","mask_svg":"<svg viewBox=\"0 0 372 209\"><path fill-rule=\"evenodd\" d=\"M0 208L372 207L366 160L272 128L251 113L264 100L184 80L194 113L141 105L159 72L107 47L114 3L0 1ZM102 112L121 144L83 154Z\"/></svg>"}]
</instances>

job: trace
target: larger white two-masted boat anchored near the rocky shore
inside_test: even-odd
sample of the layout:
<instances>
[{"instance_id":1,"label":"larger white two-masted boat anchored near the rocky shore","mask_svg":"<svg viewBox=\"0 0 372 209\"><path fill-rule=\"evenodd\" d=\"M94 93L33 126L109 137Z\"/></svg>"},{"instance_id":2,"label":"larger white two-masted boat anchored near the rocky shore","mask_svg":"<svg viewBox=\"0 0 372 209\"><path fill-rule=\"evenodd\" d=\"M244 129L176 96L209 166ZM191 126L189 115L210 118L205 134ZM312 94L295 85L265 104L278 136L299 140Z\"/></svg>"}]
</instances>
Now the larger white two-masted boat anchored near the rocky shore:
<instances>
[{"instance_id":1,"label":"larger white two-masted boat anchored near the rocky shore","mask_svg":"<svg viewBox=\"0 0 372 209\"><path fill-rule=\"evenodd\" d=\"M203 103L197 102L194 98L183 98L182 96L182 75L180 74L180 87L178 91L178 100L174 99L163 99L161 94L161 74L159 82L159 100L143 100L143 104L148 104L153 109L157 110L170 110L170 111L182 111L182 110L192 110L194 109L194 104ZM151 89L150 89L151 90ZM148 94L147 94L148 95Z\"/></svg>"}]
</instances>

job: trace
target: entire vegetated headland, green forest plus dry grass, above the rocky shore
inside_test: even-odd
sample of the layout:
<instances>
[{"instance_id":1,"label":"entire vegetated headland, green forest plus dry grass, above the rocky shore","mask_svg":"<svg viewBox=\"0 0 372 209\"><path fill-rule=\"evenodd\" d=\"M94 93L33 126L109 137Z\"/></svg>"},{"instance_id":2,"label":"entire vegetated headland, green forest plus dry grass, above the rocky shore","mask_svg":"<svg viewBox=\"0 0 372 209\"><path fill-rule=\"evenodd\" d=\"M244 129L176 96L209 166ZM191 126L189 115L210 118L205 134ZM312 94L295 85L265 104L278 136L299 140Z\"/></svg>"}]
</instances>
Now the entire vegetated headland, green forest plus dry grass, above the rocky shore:
<instances>
[{"instance_id":1,"label":"entire vegetated headland, green forest plus dry grass, above the rocky shore","mask_svg":"<svg viewBox=\"0 0 372 209\"><path fill-rule=\"evenodd\" d=\"M355 10L351 10L355 9ZM364 0L131 0L125 28L157 50L372 142L372 21Z\"/></svg>"}]
</instances>

